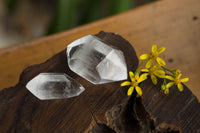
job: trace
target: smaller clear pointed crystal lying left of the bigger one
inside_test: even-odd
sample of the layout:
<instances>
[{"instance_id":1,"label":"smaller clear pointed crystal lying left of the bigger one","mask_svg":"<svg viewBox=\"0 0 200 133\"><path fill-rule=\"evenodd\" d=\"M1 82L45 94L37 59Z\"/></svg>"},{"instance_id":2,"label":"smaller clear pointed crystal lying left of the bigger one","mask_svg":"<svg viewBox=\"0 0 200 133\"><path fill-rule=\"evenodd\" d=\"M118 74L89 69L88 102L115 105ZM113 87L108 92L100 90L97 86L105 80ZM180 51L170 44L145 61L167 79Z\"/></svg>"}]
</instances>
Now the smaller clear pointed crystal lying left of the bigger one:
<instances>
[{"instance_id":1,"label":"smaller clear pointed crystal lying left of the bigger one","mask_svg":"<svg viewBox=\"0 0 200 133\"><path fill-rule=\"evenodd\" d=\"M26 88L41 100L75 97L85 90L64 73L40 73L27 83Z\"/></svg>"}]
</instances>

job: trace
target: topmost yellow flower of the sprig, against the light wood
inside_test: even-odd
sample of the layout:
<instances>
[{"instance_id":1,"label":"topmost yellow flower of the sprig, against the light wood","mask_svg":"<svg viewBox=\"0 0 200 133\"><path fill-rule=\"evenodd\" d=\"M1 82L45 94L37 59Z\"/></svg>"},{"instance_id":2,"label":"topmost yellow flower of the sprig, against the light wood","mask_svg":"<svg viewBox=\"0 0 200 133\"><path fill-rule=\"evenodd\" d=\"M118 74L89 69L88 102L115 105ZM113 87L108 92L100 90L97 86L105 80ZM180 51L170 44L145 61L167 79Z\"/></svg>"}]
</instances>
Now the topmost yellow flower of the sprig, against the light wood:
<instances>
[{"instance_id":1,"label":"topmost yellow flower of the sprig, against the light wood","mask_svg":"<svg viewBox=\"0 0 200 133\"><path fill-rule=\"evenodd\" d=\"M146 64L146 68L150 68L151 65L153 64L154 60L156 60L156 62L159 65L165 66L165 61L163 59L161 59L160 57L158 57L158 55L161 54L164 51L165 51L165 47L161 47L161 48L157 49L157 45L153 45L152 46L152 53L151 54L143 54L143 55L140 56L140 59L141 60L149 59L147 61L147 64Z\"/></svg>"}]
</instances>

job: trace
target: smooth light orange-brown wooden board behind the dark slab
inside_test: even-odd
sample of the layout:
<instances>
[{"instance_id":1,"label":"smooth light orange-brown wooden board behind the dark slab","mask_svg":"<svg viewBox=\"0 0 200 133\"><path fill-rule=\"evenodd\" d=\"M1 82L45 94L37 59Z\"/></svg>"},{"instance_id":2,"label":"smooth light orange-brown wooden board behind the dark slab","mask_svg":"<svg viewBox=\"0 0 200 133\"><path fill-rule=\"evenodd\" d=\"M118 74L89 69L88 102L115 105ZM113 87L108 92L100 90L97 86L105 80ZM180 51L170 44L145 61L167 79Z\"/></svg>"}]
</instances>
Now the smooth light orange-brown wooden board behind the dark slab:
<instances>
[{"instance_id":1,"label":"smooth light orange-brown wooden board behind the dark slab","mask_svg":"<svg viewBox=\"0 0 200 133\"><path fill-rule=\"evenodd\" d=\"M200 1L162 0L53 36L0 50L0 89L14 86L26 67L44 62L67 45L100 30L127 39L137 55L151 46L165 46L161 56L169 68L179 68L190 81L186 85L200 99Z\"/></svg>"}]
</instances>

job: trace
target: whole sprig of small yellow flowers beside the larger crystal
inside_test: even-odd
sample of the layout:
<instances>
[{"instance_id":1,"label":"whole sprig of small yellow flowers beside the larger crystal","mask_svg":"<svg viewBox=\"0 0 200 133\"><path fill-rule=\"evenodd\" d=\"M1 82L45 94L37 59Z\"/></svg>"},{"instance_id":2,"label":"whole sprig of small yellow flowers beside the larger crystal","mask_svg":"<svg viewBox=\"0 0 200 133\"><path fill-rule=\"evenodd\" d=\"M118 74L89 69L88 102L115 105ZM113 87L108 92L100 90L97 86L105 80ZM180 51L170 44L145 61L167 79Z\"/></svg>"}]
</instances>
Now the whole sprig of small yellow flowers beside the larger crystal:
<instances>
[{"instance_id":1,"label":"whole sprig of small yellow flowers beside the larger crystal","mask_svg":"<svg viewBox=\"0 0 200 133\"><path fill-rule=\"evenodd\" d=\"M130 85L130 88L127 91L128 96L130 96L134 90L136 90L138 95L142 95L142 89L139 87L139 83L146 80L147 76L151 77L152 83L154 85L156 85L158 82L157 78L163 78L164 82L161 86L161 89L164 91L165 94L169 93L169 88L173 85L177 85L179 91L183 91L183 85L181 83L187 82L189 78L180 79L182 74L179 69L170 70L165 67L165 61L162 58L158 57L158 55L164 51L165 47L157 49L157 45L153 45L152 52L150 54L143 54L140 56L140 60L142 60L142 62L138 65L135 73L133 73L132 71L129 72L131 81L125 81L121 84L121 86ZM141 69L141 72L143 72L143 74L139 75L138 69L144 61L147 61L145 65L146 68ZM156 62L157 64L153 65L154 62ZM166 71L170 72L173 76L166 75ZM166 79L171 80L171 82L167 83Z\"/></svg>"}]
</instances>

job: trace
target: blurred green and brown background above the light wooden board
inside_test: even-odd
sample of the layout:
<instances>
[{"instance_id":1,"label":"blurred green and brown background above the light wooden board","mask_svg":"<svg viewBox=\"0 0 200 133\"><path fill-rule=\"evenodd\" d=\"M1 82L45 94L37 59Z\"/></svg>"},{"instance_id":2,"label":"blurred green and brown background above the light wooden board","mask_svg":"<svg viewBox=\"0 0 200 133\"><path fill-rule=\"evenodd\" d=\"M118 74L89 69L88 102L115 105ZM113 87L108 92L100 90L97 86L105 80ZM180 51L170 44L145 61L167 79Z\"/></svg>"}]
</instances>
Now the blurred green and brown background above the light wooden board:
<instances>
[{"instance_id":1,"label":"blurred green and brown background above the light wooden board","mask_svg":"<svg viewBox=\"0 0 200 133\"><path fill-rule=\"evenodd\" d=\"M155 0L0 0L0 48L47 36Z\"/></svg>"}]
</instances>

